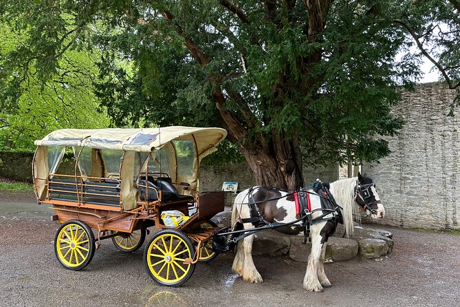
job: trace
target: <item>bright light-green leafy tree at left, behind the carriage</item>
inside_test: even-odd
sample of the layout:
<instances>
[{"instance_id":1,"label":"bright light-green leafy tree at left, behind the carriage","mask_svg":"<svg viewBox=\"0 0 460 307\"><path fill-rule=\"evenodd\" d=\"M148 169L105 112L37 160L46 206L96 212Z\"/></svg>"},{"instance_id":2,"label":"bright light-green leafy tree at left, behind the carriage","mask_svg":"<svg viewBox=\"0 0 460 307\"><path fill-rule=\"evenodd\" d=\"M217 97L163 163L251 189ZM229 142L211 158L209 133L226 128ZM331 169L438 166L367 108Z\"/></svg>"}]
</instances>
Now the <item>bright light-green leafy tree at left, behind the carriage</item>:
<instances>
[{"instance_id":1,"label":"bright light-green leafy tree at left, behind the carriage","mask_svg":"<svg viewBox=\"0 0 460 307\"><path fill-rule=\"evenodd\" d=\"M27 34L18 35L7 25L0 24L0 41L3 42L0 55L12 56L15 46L27 41ZM36 67L32 63L28 65L28 70L12 70L8 78L0 81L3 97L6 97L0 109L3 149L32 150L34 140L55 129L109 125L107 112L99 107L93 93L91 79L96 78L97 73L91 54L67 50L60 56L56 72L45 82L39 80ZM17 82L15 78L22 80Z\"/></svg>"}]
</instances>

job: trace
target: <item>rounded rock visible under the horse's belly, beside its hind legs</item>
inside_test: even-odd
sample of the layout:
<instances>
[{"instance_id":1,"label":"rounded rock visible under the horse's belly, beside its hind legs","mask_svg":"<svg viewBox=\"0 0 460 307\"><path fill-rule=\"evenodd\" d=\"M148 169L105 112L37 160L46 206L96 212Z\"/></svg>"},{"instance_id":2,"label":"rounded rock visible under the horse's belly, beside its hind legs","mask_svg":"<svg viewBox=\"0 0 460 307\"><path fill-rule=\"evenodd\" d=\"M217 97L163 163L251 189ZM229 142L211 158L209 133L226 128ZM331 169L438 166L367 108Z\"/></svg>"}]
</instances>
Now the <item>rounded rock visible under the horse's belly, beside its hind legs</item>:
<instances>
[{"instance_id":1,"label":"rounded rock visible under the horse's belly, beside its hind legs","mask_svg":"<svg viewBox=\"0 0 460 307\"><path fill-rule=\"evenodd\" d=\"M252 255L286 255L290 245L289 237L282 233L272 230L259 231L252 244Z\"/></svg>"}]
</instances>

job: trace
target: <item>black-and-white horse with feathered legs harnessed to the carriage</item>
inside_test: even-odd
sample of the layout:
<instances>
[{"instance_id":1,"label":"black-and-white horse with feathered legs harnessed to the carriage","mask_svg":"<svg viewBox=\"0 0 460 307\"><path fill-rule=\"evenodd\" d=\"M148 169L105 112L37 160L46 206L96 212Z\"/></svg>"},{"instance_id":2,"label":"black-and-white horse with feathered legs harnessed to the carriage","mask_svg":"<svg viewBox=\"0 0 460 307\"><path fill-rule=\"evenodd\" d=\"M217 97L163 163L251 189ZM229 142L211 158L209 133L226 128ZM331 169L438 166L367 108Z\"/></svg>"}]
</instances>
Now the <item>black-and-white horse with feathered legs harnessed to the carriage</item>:
<instances>
[{"instance_id":1,"label":"black-and-white horse with feathered legs harnessed to the carriage","mask_svg":"<svg viewBox=\"0 0 460 307\"><path fill-rule=\"evenodd\" d=\"M336 204L340 206L336 207L337 211L333 218L325 220L322 220L325 217L324 213L319 210L321 208L320 196L313 191L307 192L312 200L310 212L314 223L310 225L311 254L303 279L303 288L311 292L322 292L323 288L331 286L323 266L327 240L336 231L338 222L344 224L347 235L353 234L353 207L356 207L355 204L358 204L360 211L365 211L374 219L383 218L385 215L375 184L366 173L363 176L358 173L358 177L331 182L329 191L336 199ZM314 198L315 195L316 198ZM269 224L289 223L298 220L293 193L267 187L252 187L239 193L234 200L232 229L254 230L255 223L250 220L253 218L251 211L254 209L261 219ZM288 235L298 235L300 231L303 231L301 223L301 221L296 222L296 224L283 226L276 230ZM263 279L252 261L253 241L254 234L239 240L232 270L246 282L260 283L263 282Z\"/></svg>"}]
</instances>

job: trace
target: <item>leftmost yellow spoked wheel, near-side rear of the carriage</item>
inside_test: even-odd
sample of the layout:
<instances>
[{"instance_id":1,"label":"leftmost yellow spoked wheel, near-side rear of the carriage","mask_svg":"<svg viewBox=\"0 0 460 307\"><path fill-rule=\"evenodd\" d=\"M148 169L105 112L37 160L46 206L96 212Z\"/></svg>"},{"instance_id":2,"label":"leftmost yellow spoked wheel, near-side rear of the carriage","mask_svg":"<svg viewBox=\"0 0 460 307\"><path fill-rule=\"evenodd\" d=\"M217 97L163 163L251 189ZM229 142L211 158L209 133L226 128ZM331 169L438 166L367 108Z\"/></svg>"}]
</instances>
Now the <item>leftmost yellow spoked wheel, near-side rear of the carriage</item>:
<instances>
[{"instance_id":1,"label":"leftmost yellow spoked wheel, near-side rear of the carriage","mask_svg":"<svg viewBox=\"0 0 460 307\"><path fill-rule=\"evenodd\" d=\"M54 251L59 262L69 270L87 266L94 256L94 234L82 221L70 220L62 224L54 239Z\"/></svg>"}]
</instances>

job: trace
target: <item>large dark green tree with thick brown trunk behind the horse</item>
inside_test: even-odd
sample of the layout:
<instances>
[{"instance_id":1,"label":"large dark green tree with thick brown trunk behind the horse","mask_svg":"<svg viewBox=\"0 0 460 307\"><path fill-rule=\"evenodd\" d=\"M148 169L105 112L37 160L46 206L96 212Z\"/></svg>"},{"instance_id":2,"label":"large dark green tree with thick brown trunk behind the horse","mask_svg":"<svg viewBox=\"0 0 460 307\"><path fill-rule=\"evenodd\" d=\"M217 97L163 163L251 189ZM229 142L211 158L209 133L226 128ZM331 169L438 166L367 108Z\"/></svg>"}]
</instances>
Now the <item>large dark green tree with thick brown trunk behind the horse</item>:
<instances>
[{"instance_id":1,"label":"large dark green tree with thick brown trunk behind the horse","mask_svg":"<svg viewBox=\"0 0 460 307\"><path fill-rule=\"evenodd\" d=\"M4 1L30 41L0 64L3 101L30 63L45 80L69 48L97 48L96 94L118 125L224 127L259 184L295 189L303 162L388 154L391 105L417 75L415 57L395 61L408 2Z\"/></svg>"}]
</instances>

